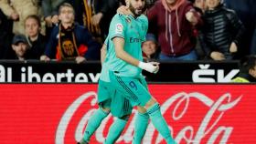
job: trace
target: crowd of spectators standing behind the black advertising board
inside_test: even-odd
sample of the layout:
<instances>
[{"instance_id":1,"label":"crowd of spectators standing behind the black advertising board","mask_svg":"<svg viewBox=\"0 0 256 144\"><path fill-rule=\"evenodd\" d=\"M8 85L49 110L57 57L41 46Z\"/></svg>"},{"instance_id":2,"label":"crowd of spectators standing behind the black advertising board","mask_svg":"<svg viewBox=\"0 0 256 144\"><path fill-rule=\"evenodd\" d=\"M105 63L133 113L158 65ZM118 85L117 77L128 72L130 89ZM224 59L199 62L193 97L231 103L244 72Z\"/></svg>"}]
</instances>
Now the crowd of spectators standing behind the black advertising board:
<instances>
[{"instance_id":1,"label":"crowd of spectators standing behind the black advertising board","mask_svg":"<svg viewBox=\"0 0 256 144\"><path fill-rule=\"evenodd\" d=\"M122 0L0 0L0 59L99 60ZM146 0L145 61L256 54L254 0Z\"/></svg>"}]
</instances>

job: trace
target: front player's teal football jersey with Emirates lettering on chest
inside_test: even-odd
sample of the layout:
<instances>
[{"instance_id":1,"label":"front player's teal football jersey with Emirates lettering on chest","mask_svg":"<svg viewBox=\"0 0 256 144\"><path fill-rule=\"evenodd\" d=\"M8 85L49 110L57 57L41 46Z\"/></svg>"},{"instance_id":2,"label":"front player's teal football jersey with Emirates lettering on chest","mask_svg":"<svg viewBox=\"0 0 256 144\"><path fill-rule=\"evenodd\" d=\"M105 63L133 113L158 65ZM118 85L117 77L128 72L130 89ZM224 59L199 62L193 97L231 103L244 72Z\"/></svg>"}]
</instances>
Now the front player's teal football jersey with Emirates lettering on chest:
<instances>
[{"instance_id":1,"label":"front player's teal football jersey with Emirates lettering on chest","mask_svg":"<svg viewBox=\"0 0 256 144\"><path fill-rule=\"evenodd\" d=\"M120 76L139 77L142 69L134 67L115 56L112 38L123 37L124 50L132 57L143 61L142 42L148 28L148 20L145 15L134 18L133 15L114 15L109 29L107 57L105 62L112 71L118 71Z\"/></svg>"}]
</instances>

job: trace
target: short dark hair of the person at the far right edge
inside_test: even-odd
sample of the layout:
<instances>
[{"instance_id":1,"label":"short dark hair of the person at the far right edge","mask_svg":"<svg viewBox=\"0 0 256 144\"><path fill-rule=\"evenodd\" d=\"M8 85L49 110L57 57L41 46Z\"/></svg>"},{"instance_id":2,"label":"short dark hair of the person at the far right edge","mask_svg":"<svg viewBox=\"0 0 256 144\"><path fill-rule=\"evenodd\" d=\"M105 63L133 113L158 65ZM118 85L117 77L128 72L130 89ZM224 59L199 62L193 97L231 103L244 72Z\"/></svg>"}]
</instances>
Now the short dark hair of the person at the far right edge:
<instances>
[{"instance_id":1,"label":"short dark hair of the person at the far right edge","mask_svg":"<svg viewBox=\"0 0 256 144\"><path fill-rule=\"evenodd\" d=\"M256 56L251 55L240 60L240 72L249 73L250 69L256 66Z\"/></svg>"}]
</instances>

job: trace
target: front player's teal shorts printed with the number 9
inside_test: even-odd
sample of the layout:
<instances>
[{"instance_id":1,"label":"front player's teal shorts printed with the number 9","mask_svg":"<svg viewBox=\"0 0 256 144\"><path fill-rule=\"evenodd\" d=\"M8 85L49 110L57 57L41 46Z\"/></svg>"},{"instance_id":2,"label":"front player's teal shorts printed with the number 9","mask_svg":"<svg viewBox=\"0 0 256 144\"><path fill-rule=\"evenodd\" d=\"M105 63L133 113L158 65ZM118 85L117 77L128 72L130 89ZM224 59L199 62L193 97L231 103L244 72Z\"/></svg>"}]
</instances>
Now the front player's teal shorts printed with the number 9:
<instances>
[{"instance_id":1,"label":"front player's teal shorts printed with the number 9","mask_svg":"<svg viewBox=\"0 0 256 144\"><path fill-rule=\"evenodd\" d=\"M118 72L110 71L112 86L121 93L121 97L130 100L133 106L142 106L152 98L144 77L121 77Z\"/></svg>"}]
</instances>

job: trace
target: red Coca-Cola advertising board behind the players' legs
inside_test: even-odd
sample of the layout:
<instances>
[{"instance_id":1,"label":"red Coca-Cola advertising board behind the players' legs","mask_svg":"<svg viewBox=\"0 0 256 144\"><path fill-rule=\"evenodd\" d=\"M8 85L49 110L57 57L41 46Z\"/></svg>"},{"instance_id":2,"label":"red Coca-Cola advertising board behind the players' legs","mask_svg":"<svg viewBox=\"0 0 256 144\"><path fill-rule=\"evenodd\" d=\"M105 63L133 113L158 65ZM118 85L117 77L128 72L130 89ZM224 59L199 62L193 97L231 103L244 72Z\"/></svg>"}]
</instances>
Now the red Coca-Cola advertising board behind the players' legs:
<instances>
[{"instance_id":1,"label":"red Coca-Cola advertising board behind the players' legs","mask_svg":"<svg viewBox=\"0 0 256 144\"><path fill-rule=\"evenodd\" d=\"M256 142L254 85L149 85L173 138L181 144ZM97 106L97 85L1 84L2 144L72 144ZM131 143L134 113L117 143ZM102 143L114 118L91 138ZM165 143L151 122L143 143Z\"/></svg>"}]
</instances>

